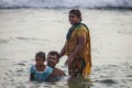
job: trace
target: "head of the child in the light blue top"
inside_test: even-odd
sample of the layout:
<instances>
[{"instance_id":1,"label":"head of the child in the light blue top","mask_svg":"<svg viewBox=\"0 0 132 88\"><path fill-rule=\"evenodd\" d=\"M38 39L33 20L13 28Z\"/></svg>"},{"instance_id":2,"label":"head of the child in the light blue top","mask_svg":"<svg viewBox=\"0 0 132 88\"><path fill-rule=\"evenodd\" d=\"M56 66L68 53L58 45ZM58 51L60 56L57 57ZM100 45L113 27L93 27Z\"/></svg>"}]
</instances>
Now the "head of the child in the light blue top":
<instances>
[{"instance_id":1,"label":"head of the child in the light blue top","mask_svg":"<svg viewBox=\"0 0 132 88\"><path fill-rule=\"evenodd\" d=\"M36 53L35 62L36 62L36 65L43 65L45 62L45 53L44 52Z\"/></svg>"}]
</instances>

